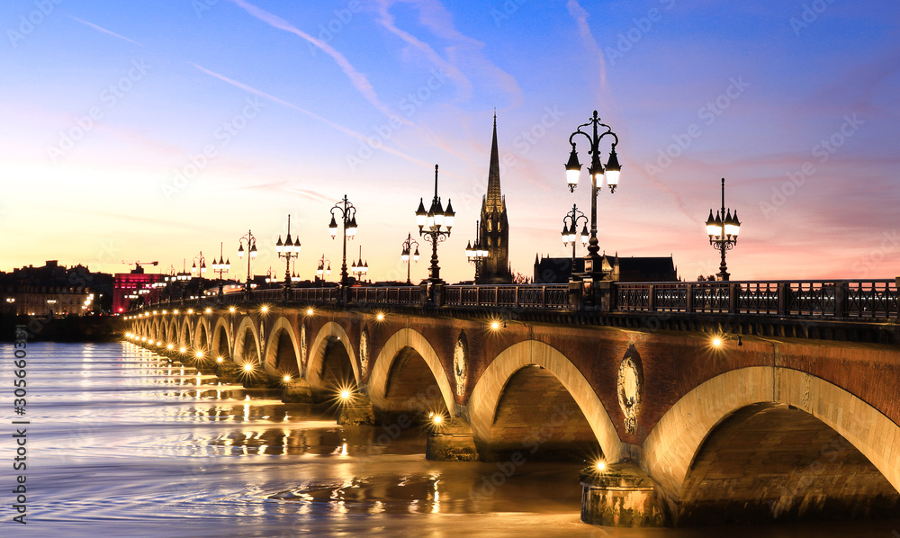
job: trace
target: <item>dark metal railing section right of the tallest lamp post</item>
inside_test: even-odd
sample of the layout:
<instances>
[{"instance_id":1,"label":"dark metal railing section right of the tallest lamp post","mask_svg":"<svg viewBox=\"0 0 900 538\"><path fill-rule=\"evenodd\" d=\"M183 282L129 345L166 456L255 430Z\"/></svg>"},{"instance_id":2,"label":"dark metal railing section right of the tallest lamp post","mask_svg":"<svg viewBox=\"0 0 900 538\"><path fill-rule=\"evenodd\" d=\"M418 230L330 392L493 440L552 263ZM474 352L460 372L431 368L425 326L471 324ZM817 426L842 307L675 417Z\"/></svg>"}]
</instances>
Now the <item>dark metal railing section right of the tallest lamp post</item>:
<instances>
[{"instance_id":1,"label":"dark metal railing section right of the tallest lamp post","mask_svg":"<svg viewBox=\"0 0 900 538\"><path fill-rule=\"evenodd\" d=\"M895 280L620 282L617 310L832 318L897 315Z\"/></svg>"}]
</instances>

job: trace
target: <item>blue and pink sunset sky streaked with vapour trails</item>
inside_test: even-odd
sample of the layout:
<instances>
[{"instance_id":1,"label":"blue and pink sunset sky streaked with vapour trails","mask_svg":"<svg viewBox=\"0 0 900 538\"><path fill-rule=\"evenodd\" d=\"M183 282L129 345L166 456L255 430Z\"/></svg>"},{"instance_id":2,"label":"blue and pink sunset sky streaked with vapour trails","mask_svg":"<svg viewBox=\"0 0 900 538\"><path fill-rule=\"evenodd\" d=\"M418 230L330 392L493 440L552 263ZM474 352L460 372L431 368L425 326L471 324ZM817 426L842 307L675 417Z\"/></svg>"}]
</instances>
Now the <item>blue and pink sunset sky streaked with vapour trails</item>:
<instances>
[{"instance_id":1,"label":"blue and pink sunset sky streaked with vapour trails","mask_svg":"<svg viewBox=\"0 0 900 538\"><path fill-rule=\"evenodd\" d=\"M362 245L373 280L405 280L438 164L456 211L442 276L471 279L496 109L510 261L531 275L536 253L571 253L572 203L590 211L563 165L596 109L623 166L598 197L608 254L716 273L704 221L725 177L734 280L900 274L893 0L14 0L0 22L3 271L180 271L224 242L243 279L252 229L253 273L282 277L290 213L310 278L323 254L340 266L329 209L346 193L347 265Z\"/></svg>"}]
</instances>

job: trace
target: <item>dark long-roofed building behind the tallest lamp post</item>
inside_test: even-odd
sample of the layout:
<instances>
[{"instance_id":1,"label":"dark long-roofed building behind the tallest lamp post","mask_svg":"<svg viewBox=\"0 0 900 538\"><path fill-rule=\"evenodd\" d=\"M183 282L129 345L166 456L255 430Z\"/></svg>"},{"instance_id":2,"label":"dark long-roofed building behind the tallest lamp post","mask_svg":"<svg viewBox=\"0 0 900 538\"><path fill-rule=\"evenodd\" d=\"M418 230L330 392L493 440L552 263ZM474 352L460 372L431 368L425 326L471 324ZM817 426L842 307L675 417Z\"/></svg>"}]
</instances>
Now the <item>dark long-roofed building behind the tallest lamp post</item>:
<instances>
[{"instance_id":1,"label":"dark long-roofed building behind the tallest lamp post","mask_svg":"<svg viewBox=\"0 0 900 538\"><path fill-rule=\"evenodd\" d=\"M671 256L620 257L600 256L604 273L615 282L676 282L678 272ZM575 273L584 271L584 258L575 258ZM572 275L572 258L535 256L535 283L569 282Z\"/></svg>"}]
</instances>

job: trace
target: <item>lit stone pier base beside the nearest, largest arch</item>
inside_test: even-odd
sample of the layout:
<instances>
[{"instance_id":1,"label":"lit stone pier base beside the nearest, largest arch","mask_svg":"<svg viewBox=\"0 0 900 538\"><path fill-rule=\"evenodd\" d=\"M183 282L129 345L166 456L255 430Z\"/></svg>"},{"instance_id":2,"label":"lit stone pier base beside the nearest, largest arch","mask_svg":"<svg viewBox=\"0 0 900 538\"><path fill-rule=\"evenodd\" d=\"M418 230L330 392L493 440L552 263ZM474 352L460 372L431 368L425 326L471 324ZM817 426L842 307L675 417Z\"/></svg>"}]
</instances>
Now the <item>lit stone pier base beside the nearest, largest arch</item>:
<instances>
[{"instance_id":1,"label":"lit stone pier base beside the nearest, largest arch","mask_svg":"<svg viewBox=\"0 0 900 538\"><path fill-rule=\"evenodd\" d=\"M653 480L632 462L588 467L581 480L581 521L590 525L648 527L665 525Z\"/></svg>"}]
</instances>

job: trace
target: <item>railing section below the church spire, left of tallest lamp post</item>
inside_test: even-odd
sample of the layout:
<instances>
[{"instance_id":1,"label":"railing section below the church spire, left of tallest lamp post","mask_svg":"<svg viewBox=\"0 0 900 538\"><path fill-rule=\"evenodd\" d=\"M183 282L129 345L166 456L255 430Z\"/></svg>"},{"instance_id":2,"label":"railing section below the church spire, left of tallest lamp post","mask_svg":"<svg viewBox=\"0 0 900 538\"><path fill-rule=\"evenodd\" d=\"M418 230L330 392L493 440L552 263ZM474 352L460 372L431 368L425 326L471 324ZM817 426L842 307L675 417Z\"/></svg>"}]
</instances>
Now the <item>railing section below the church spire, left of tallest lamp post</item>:
<instances>
[{"instance_id":1,"label":"railing section below the church spire, left of tallest lamp post","mask_svg":"<svg viewBox=\"0 0 900 538\"><path fill-rule=\"evenodd\" d=\"M454 307L568 309L569 284L445 286L444 304Z\"/></svg>"}]
</instances>

